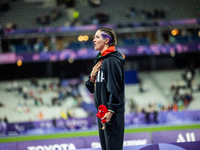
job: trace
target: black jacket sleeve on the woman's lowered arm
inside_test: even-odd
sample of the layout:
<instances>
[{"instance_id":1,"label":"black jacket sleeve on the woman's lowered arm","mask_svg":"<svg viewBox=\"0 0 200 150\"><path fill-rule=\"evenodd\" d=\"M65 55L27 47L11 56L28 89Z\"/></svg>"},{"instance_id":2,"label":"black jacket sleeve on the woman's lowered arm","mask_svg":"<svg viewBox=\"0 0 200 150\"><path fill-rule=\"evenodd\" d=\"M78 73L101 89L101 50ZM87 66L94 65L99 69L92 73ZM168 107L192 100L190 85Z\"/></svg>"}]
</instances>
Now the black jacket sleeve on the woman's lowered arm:
<instances>
[{"instance_id":1,"label":"black jacket sleeve on the woman's lowered arm","mask_svg":"<svg viewBox=\"0 0 200 150\"><path fill-rule=\"evenodd\" d=\"M122 94L124 91L124 68L119 59L110 58L103 64L105 84L109 93L108 109L115 111L120 105L124 105Z\"/></svg>"}]
</instances>

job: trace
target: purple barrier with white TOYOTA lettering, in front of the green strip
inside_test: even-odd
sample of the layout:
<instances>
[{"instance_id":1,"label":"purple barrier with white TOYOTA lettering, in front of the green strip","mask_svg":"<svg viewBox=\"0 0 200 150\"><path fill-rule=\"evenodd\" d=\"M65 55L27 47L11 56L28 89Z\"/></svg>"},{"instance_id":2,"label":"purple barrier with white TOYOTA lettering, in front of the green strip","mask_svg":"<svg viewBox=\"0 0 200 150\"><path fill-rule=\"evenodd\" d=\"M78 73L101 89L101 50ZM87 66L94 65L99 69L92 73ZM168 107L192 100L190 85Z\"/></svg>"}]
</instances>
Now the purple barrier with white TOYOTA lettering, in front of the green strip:
<instances>
[{"instance_id":1,"label":"purple barrier with white TOYOTA lettering, in front of the green strip","mask_svg":"<svg viewBox=\"0 0 200 150\"><path fill-rule=\"evenodd\" d=\"M124 150L200 150L199 139L199 129L153 132L152 136L148 132L128 133L124 137ZM74 150L84 148L99 150L99 137L89 136L0 143L0 150Z\"/></svg>"}]
</instances>

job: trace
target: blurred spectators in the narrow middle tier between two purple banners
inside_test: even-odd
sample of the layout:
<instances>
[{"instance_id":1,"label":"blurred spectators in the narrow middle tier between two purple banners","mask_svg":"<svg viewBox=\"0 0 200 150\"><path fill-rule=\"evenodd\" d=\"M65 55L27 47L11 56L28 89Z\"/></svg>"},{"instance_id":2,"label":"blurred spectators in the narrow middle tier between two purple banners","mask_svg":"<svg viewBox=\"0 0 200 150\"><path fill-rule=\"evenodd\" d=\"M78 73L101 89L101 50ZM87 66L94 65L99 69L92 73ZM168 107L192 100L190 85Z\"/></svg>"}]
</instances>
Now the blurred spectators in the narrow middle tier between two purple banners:
<instances>
[{"instance_id":1,"label":"blurred spectators in the narrow middle tier between two purple banners","mask_svg":"<svg viewBox=\"0 0 200 150\"><path fill-rule=\"evenodd\" d=\"M3 39L3 51L15 53L38 53L49 51L62 51L66 49L77 50L81 48L93 48L93 35L88 35L87 41L78 41L77 36L44 36L24 37L20 39ZM197 29L182 29L179 34L173 36L170 30L163 30L162 35L156 32L121 33L118 35L119 47L137 47L153 44L191 44L200 42Z\"/></svg>"}]
</instances>

